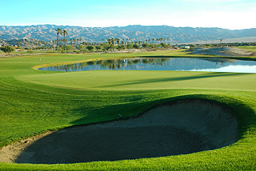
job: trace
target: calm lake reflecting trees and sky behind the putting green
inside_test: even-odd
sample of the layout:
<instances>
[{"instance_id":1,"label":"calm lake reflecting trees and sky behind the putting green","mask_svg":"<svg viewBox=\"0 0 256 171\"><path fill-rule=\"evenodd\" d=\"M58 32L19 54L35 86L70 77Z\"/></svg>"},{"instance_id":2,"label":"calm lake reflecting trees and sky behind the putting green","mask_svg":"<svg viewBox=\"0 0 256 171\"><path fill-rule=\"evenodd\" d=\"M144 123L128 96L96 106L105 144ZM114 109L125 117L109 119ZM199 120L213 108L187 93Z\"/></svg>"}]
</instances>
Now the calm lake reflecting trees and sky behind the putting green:
<instances>
[{"instance_id":1,"label":"calm lake reflecting trees and sky behind the putting green","mask_svg":"<svg viewBox=\"0 0 256 171\"><path fill-rule=\"evenodd\" d=\"M38 70L185 70L256 73L256 62L226 58L127 58L50 66Z\"/></svg>"}]
</instances>

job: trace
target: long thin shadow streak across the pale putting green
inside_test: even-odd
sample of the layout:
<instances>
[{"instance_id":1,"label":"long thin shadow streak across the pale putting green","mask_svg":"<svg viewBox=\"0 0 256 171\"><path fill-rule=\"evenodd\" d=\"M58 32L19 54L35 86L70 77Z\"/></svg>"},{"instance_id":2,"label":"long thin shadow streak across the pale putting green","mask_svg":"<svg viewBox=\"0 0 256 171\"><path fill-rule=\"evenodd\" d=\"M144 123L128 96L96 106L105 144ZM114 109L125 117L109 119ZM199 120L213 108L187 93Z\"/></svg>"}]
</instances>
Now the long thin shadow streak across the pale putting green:
<instances>
[{"instance_id":1,"label":"long thin shadow streak across the pale putting green","mask_svg":"<svg viewBox=\"0 0 256 171\"><path fill-rule=\"evenodd\" d=\"M138 85L138 84L146 84L146 83L154 83L154 82L180 82L180 81L186 81L186 80L230 77L230 76L238 76L238 75L246 75L246 73L210 73L210 74L201 74L193 77L142 79L134 82L123 82L121 84L98 86L97 88L108 88L108 87L122 86L122 85Z\"/></svg>"}]
</instances>

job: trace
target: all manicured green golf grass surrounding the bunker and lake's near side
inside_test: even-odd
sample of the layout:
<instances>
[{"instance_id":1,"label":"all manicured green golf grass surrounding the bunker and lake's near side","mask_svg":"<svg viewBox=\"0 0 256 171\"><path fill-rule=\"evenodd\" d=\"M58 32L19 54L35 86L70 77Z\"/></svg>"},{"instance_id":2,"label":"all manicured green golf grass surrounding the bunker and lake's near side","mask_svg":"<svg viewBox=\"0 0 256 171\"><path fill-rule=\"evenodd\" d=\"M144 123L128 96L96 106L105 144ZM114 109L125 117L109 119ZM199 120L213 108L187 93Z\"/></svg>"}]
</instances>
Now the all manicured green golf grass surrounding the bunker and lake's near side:
<instances>
[{"instance_id":1,"label":"all manicured green golf grass surrounding the bunker and lake's near side","mask_svg":"<svg viewBox=\"0 0 256 171\"><path fill-rule=\"evenodd\" d=\"M256 74L184 71L58 73L33 69L53 63L142 56L189 55L170 51L0 58L0 147L47 130L110 121L118 119L118 113L131 117L164 101L187 98L218 101L233 109L238 117L238 142L222 149L188 155L69 165L0 163L0 170L256 169Z\"/></svg>"}]
</instances>

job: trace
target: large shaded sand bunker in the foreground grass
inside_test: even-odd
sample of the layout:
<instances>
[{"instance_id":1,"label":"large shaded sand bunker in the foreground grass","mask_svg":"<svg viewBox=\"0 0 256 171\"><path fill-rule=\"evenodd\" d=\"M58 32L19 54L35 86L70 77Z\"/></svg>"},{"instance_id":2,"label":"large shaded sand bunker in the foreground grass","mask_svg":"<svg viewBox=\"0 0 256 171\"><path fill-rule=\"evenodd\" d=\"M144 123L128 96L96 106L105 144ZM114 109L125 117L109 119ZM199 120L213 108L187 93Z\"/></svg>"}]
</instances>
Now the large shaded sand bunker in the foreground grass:
<instances>
[{"instance_id":1,"label":"large shaded sand bunker in the foreground grass","mask_svg":"<svg viewBox=\"0 0 256 171\"><path fill-rule=\"evenodd\" d=\"M160 105L139 117L62 129L4 147L0 161L34 164L116 161L218 149L237 141L228 109L206 101Z\"/></svg>"}]
</instances>

